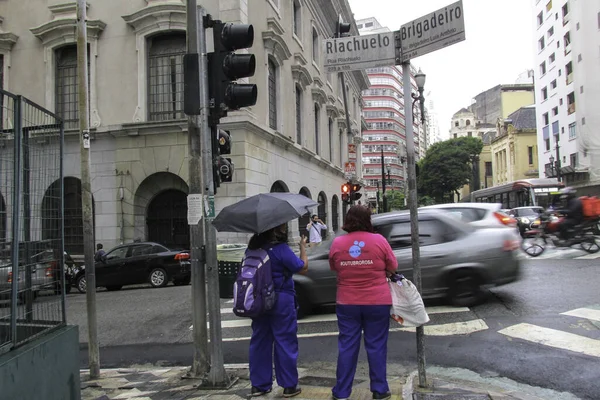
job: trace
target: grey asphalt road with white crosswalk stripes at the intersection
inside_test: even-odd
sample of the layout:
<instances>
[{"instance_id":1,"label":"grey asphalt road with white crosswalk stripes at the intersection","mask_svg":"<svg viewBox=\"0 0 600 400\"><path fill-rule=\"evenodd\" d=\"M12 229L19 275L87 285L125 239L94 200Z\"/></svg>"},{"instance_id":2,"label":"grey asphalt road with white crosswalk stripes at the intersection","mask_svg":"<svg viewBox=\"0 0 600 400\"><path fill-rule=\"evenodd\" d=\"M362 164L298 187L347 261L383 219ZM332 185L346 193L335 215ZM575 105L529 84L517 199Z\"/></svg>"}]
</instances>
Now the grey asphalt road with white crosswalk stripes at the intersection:
<instances>
[{"instance_id":1,"label":"grey asphalt road with white crosswalk stripes at the intersection","mask_svg":"<svg viewBox=\"0 0 600 400\"><path fill-rule=\"evenodd\" d=\"M523 279L492 289L483 305L429 305L427 362L597 399L599 284L599 260L527 260ZM189 286L98 292L103 366L189 365L190 292ZM229 307L223 300L225 362L245 363L251 331ZM321 310L299 324L301 363L335 361L337 328L331 312ZM87 342L84 295L68 296L68 317L80 325L81 342ZM85 345L81 355L85 366ZM391 333L389 361L414 367L414 334L397 328Z\"/></svg>"}]
</instances>

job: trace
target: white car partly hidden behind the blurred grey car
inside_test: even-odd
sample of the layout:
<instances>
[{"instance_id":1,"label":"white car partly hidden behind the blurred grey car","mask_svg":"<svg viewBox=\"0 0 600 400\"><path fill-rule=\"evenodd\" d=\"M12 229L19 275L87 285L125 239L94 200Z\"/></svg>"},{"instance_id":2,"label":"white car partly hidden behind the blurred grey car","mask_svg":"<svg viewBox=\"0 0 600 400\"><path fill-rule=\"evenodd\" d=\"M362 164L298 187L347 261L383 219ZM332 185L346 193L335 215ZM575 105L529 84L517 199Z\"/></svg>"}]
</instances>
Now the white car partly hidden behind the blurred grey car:
<instances>
[{"instance_id":1,"label":"white car partly hidden behind the blurred grey car","mask_svg":"<svg viewBox=\"0 0 600 400\"><path fill-rule=\"evenodd\" d=\"M425 206L422 209L450 212L461 221L475 227L515 228L517 226L517 220L505 213L500 203L448 203Z\"/></svg>"}]
</instances>

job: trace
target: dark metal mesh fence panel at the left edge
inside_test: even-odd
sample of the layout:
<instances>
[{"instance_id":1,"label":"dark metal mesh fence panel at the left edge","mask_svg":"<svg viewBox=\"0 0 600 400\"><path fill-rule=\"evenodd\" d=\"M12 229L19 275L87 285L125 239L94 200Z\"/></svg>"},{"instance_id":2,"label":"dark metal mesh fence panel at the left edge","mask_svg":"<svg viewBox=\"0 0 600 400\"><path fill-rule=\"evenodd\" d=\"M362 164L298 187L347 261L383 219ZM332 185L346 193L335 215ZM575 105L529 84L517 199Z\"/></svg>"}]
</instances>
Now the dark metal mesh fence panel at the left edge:
<instances>
[{"instance_id":1,"label":"dark metal mesh fence panel at the left edge","mask_svg":"<svg viewBox=\"0 0 600 400\"><path fill-rule=\"evenodd\" d=\"M66 323L63 122L0 90L0 354Z\"/></svg>"}]
</instances>

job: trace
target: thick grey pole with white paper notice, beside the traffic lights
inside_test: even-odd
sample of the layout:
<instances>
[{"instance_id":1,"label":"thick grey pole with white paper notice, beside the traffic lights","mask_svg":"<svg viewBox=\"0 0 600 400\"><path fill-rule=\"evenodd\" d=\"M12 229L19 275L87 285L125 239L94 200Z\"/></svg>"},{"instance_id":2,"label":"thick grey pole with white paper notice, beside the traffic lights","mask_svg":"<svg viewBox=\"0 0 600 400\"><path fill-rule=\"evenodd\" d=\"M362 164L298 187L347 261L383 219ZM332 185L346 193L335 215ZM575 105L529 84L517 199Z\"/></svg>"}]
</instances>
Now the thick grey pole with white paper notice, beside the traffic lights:
<instances>
[{"instance_id":1,"label":"thick grey pole with white paper notice, beside the traffic lights","mask_svg":"<svg viewBox=\"0 0 600 400\"><path fill-rule=\"evenodd\" d=\"M191 89L190 96L199 107L188 115L188 147L190 159L189 188L190 199L195 199L196 208L202 209L202 175L201 137L208 135L208 91L204 82L207 80L206 70L206 34L203 22L204 12L198 9L197 0L187 0L187 55L186 62L192 63L190 76L186 76L186 89ZM202 83L202 84L201 84ZM188 86L189 85L189 86ZM184 89L185 90L185 89ZM190 110L185 110L186 113ZM212 169L209 168L209 171ZM194 196L195 195L195 196ZM190 201L194 200L189 200ZM197 212L197 210L195 210ZM190 204L188 204L188 214ZM206 325L206 273L204 270L204 235L196 218L188 220L190 225L190 261L192 269L192 326L194 337L194 359L190 375L204 376L210 368L208 357L208 328Z\"/></svg>"}]
</instances>

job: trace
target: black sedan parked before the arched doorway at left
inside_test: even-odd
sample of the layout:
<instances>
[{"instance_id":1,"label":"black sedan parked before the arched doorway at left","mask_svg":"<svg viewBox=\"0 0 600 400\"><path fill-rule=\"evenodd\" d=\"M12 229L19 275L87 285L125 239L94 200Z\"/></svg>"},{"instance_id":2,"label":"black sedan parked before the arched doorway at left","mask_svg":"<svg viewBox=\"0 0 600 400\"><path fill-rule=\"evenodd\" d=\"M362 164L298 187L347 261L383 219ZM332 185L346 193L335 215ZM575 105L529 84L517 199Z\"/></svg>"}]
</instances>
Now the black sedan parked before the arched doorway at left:
<instances>
[{"instance_id":1,"label":"black sedan parked before the arched doorway at left","mask_svg":"<svg viewBox=\"0 0 600 400\"><path fill-rule=\"evenodd\" d=\"M169 249L153 242L117 246L106 253L96 266L96 287L119 290L126 285L149 283L152 287L189 285L191 280L188 250ZM85 268L77 273L75 286L85 293Z\"/></svg>"}]
</instances>

